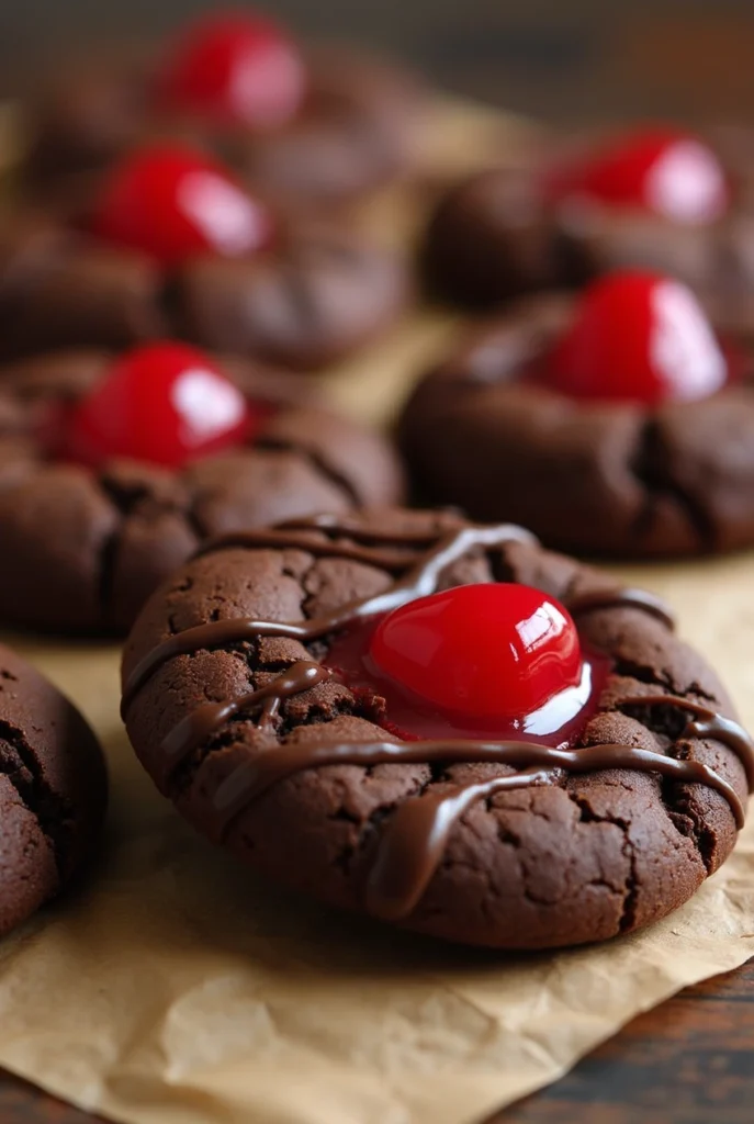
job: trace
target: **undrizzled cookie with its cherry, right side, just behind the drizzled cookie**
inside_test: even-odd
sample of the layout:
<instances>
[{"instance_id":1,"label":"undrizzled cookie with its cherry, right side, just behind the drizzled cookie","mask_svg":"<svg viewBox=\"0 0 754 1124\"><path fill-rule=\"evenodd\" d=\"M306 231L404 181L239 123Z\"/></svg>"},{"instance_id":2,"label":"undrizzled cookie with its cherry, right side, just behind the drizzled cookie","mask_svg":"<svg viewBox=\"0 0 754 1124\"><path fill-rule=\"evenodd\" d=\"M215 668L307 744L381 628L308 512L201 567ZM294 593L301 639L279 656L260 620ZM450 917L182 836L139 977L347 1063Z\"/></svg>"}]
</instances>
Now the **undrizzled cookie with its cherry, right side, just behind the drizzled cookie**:
<instances>
[{"instance_id":1,"label":"undrizzled cookie with its cherry, right side, just behind the drizzled cookie","mask_svg":"<svg viewBox=\"0 0 754 1124\"><path fill-rule=\"evenodd\" d=\"M520 303L415 389L420 497L562 549L680 556L754 543L751 352L663 274Z\"/></svg>"}]
</instances>

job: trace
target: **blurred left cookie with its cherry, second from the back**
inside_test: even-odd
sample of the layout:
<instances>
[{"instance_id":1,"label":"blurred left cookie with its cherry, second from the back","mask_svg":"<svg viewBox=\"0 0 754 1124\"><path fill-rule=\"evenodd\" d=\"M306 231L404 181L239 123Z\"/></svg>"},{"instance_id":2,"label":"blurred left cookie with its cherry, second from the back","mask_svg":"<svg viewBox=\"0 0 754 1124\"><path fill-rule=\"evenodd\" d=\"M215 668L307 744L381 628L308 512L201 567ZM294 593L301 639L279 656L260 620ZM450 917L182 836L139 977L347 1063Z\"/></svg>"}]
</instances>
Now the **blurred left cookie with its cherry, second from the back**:
<instances>
[{"instance_id":1,"label":"blurred left cookie with its cherry, second from the back","mask_svg":"<svg viewBox=\"0 0 754 1124\"><path fill-rule=\"evenodd\" d=\"M169 336L300 370L389 327L405 263L348 224L283 218L185 144L130 152L84 212L0 220L0 355Z\"/></svg>"}]
</instances>

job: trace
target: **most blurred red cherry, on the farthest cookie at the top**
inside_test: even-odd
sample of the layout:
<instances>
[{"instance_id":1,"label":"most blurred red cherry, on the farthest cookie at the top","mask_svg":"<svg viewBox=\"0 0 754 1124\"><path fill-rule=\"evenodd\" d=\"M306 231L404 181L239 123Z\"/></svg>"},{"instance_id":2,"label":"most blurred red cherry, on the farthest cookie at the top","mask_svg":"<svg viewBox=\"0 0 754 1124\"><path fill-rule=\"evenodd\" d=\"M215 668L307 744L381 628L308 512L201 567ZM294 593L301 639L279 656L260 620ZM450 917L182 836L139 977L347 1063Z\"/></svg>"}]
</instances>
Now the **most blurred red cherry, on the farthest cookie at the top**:
<instances>
[{"instance_id":1,"label":"most blurred red cherry, on the farthest cookie at the top","mask_svg":"<svg viewBox=\"0 0 754 1124\"><path fill-rule=\"evenodd\" d=\"M296 44L271 19L242 12L192 25L161 82L162 99L173 109L256 129L290 120L306 88Z\"/></svg>"}]
</instances>

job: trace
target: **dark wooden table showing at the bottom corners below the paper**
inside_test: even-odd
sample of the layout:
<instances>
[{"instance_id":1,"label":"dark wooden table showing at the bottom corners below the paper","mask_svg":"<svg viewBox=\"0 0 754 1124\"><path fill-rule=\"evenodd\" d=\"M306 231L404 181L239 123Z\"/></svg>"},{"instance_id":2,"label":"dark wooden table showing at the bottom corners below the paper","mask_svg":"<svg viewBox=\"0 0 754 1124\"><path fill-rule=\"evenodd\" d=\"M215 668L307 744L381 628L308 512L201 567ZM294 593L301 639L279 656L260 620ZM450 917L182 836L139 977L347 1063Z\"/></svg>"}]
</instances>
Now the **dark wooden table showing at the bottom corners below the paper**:
<instances>
[{"instance_id":1,"label":"dark wooden table showing at the bottom corners below the paper","mask_svg":"<svg viewBox=\"0 0 754 1124\"><path fill-rule=\"evenodd\" d=\"M579 1124L752 1124L754 960L634 1019L563 1080L489 1124L576 1118ZM94 1124L96 1117L0 1075L0 1121Z\"/></svg>"}]
</instances>

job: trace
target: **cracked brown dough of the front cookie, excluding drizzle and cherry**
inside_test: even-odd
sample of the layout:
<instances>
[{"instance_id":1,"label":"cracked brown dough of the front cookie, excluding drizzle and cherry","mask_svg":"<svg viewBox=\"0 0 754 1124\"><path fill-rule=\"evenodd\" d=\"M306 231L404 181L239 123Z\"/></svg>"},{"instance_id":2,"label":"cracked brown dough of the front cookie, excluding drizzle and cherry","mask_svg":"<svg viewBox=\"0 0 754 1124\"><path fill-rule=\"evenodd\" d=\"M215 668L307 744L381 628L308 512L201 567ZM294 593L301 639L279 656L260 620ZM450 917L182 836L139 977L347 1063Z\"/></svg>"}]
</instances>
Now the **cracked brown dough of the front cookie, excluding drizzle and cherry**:
<instances>
[{"instance_id":1,"label":"cracked brown dough of the front cookie, excluding drizzle and cherry","mask_svg":"<svg viewBox=\"0 0 754 1124\"><path fill-rule=\"evenodd\" d=\"M245 619L299 622L306 631L347 604L393 588L416 563L407 533L431 544L467 526L448 514L383 509L352 516L340 531L308 533L316 542L309 550L276 547L273 532L266 546L249 541L210 550L151 598L125 652L124 710L142 763L183 816L273 879L364 910L365 887L398 809L416 797L515 773L494 761L456 764L430 761L429 754L426 762L296 768L257 788L218 831L218 796L255 762L258 769L266 761L274 772L275 754L302 753L306 760L334 742L396 742L378 725L374 700L335 680L281 696L269 722L242 706L185 742L178 759L167 753L199 709L264 694L300 661L323 660L328 647L327 635L302 642L282 635L282 627L233 642L211 636L228 627L233 635ZM391 546L388 569L344 556L344 549L353 555L354 544L372 532ZM610 579L535 542L460 553L440 570L436 588L485 581L516 581L566 606L581 604L582 640L610 658L598 711L576 750L610 744L702 763L737 796L732 805L709 785L679 782L651 768L563 769L546 785L497 792L471 804L454 823L401 924L455 941L526 949L602 940L664 916L735 843L733 807L746 797L744 764L725 742L690 736L684 715L684 705L698 704L732 716L724 688L666 619L646 606L612 602ZM201 633L187 641L197 628ZM421 753L421 742L410 744Z\"/></svg>"}]
</instances>

